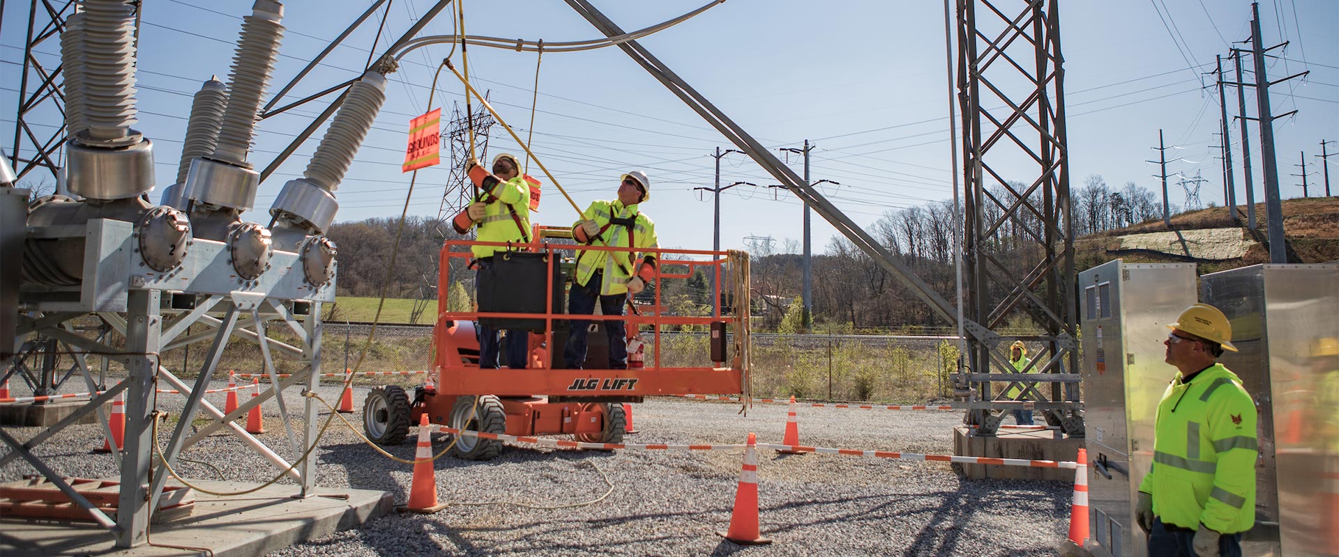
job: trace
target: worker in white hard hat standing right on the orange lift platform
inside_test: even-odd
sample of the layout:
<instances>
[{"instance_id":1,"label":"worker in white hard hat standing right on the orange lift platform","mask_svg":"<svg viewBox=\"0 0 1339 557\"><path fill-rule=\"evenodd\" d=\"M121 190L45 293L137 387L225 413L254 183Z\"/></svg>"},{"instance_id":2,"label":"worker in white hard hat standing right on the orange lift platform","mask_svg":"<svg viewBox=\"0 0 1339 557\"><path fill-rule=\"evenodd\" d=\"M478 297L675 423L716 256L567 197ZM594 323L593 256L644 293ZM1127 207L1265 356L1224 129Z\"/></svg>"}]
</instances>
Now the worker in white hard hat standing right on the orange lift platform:
<instances>
[{"instance_id":1,"label":"worker in white hard hat standing right on the orange lift platform","mask_svg":"<svg viewBox=\"0 0 1339 557\"><path fill-rule=\"evenodd\" d=\"M655 276L660 247L656 224L639 210L651 199L647 172L631 171L621 176L619 198L590 203L585 220L572 226L572 236L586 246L632 247L632 251L577 250L577 275L568 293L568 313L590 315L596 301L604 315L623 315L628 295L636 295ZM589 321L569 322L568 343L562 351L568 369L578 370L586 358ZM605 321L609 339L609 369L628 367L628 346L623 321Z\"/></svg>"}]
</instances>

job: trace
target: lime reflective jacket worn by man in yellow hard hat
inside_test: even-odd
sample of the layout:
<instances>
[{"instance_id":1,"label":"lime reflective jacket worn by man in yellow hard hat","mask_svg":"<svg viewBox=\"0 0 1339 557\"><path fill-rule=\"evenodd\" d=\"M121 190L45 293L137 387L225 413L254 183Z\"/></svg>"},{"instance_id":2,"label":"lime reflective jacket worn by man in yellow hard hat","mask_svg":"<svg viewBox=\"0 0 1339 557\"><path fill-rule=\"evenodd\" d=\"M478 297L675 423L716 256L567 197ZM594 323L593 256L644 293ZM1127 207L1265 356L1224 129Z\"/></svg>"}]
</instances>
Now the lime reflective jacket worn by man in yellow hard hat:
<instances>
[{"instance_id":1,"label":"lime reflective jacket worn by man in yellow hard hat","mask_svg":"<svg viewBox=\"0 0 1339 557\"><path fill-rule=\"evenodd\" d=\"M1235 534L1255 524L1256 407L1236 374L1214 363L1176 375L1158 403L1153 468L1139 490L1164 524Z\"/></svg>"}]
</instances>

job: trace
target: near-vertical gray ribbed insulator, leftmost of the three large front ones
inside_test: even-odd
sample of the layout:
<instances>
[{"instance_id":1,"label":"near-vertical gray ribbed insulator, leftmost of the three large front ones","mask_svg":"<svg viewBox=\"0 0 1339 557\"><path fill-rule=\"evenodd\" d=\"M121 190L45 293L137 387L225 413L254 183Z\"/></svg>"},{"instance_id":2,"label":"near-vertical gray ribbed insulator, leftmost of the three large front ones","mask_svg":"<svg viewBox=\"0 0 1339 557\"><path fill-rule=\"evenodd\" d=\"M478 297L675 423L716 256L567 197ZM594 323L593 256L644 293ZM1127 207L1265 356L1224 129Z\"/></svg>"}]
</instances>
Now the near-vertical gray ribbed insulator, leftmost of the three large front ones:
<instances>
[{"instance_id":1,"label":"near-vertical gray ribbed insulator, leftmost of the three large front ones","mask_svg":"<svg viewBox=\"0 0 1339 557\"><path fill-rule=\"evenodd\" d=\"M127 0L84 1L83 114L98 142L137 143L135 8Z\"/></svg>"}]
</instances>

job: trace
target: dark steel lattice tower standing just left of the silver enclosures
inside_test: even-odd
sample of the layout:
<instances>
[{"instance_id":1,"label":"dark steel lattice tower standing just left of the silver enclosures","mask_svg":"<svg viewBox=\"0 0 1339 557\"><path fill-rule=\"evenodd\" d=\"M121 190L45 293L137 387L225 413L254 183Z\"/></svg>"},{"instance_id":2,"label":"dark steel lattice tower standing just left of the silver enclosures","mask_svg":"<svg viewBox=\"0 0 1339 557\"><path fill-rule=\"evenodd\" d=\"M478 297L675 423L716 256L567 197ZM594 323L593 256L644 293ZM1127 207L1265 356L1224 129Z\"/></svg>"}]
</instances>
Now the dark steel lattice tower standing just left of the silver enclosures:
<instances>
[{"instance_id":1,"label":"dark steel lattice tower standing just left of the silver enclosures","mask_svg":"<svg viewBox=\"0 0 1339 557\"><path fill-rule=\"evenodd\" d=\"M996 4L957 0L957 92L967 184L965 318L995 329L1023 311L1038 322L1043 334L1011 338L1043 343L1051 355L1043 371L1067 379L1052 381L1050 393L1028 387L1024 399L1038 401L1038 407L1050 401L1046 415L1051 425L1082 423L1065 419L1081 406L1058 1L1031 0L1022 8ZM999 104L1006 108L987 108ZM1030 183L1010 183L999 167L1020 162L1035 164L1038 172ZM1026 234L1015 235L1023 238L1020 244L1002 246L999 232L1010 226ZM986 418L995 409L1012 406L981 402L992 399L991 382L999 381L998 374L981 371L1014 371L1004 357L1007 347L991 341L968 335L969 366L977 373L965 378L973 387L969 418L977 434L994 434L999 422ZM1082 427L1063 429L1083 433Z\"/></svg>"}]
</instances>

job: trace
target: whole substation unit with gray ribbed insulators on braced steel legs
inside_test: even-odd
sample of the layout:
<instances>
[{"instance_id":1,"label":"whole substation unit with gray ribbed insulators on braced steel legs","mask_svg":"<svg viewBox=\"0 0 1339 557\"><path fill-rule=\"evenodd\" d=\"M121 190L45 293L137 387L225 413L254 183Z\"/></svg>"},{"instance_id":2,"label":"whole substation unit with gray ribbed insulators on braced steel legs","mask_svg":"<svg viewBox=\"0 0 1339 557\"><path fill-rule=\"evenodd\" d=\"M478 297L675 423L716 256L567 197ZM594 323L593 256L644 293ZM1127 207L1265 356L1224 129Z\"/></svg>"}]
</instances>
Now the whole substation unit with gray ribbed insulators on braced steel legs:
<instances>
[{"instance_id":1,"label":"whole substation unit with gray ribbed insulators on braced steel legs","mask_svg":"<svg viewBox=\"0 0 1339 557\"><path fill-rule=\"evenodd\" d=\"M66 8L75 9L72 4ZM0 190L0 333L16 339L3 346L0 363L9 370L19 339L36 334L74 358L84 386L98 394L27 442L0 429L9 449L0 466L28 461L111 532L116 546L131 548L146 542L147 525L171 504L162 459L175 463L183 450L218 430L237 435L273 465L276 476L292 478L297 497L313 494L317 401L303 397L299 425L284 419L287 443L279 450L236 419L270 398L288 415L297 390L291 387L315 390L319 383L321 309L333 302L336 274L336 246L323 232L339 208L335 190L384 100L382 73L390 67L351 84L304 176L288 182L270 207L270 222L244 222L241 214L253 207L260 184L248 154L284 29L283 5L256 1L244 19L226 88L209 80L194 98L177 183L155 206L149 200L157 186L153 143L131 128L134 3L86 0L79 8L66 17L60 40L68 130L60 191L68 195L29 204L28 191L9 183L15 174L8 168ZM270 338L274 322L297 342ZM112 342L107 331L123 342ZM258 345L269 385L225 414L202 397L233 337ZM167 350L195 343L209 349L201 367L189 370L194 379L183 379L182 370L161 359ZM102 374L90 370L90 357L103 362ZM300 370L277 377L277 358L296 361ZM108 385L108 361L121 363L127 377ZM187 398L170 437L155 449L155 390L169 385ZM110 434L102 409L122 394L125 451L112 451L122 488L115 517L108 517L33 447L90 413L98 413ZM197 415L210 421L193 431ZM287 457L280 454L285 449Z\"/></svg>"}]
</instances>

